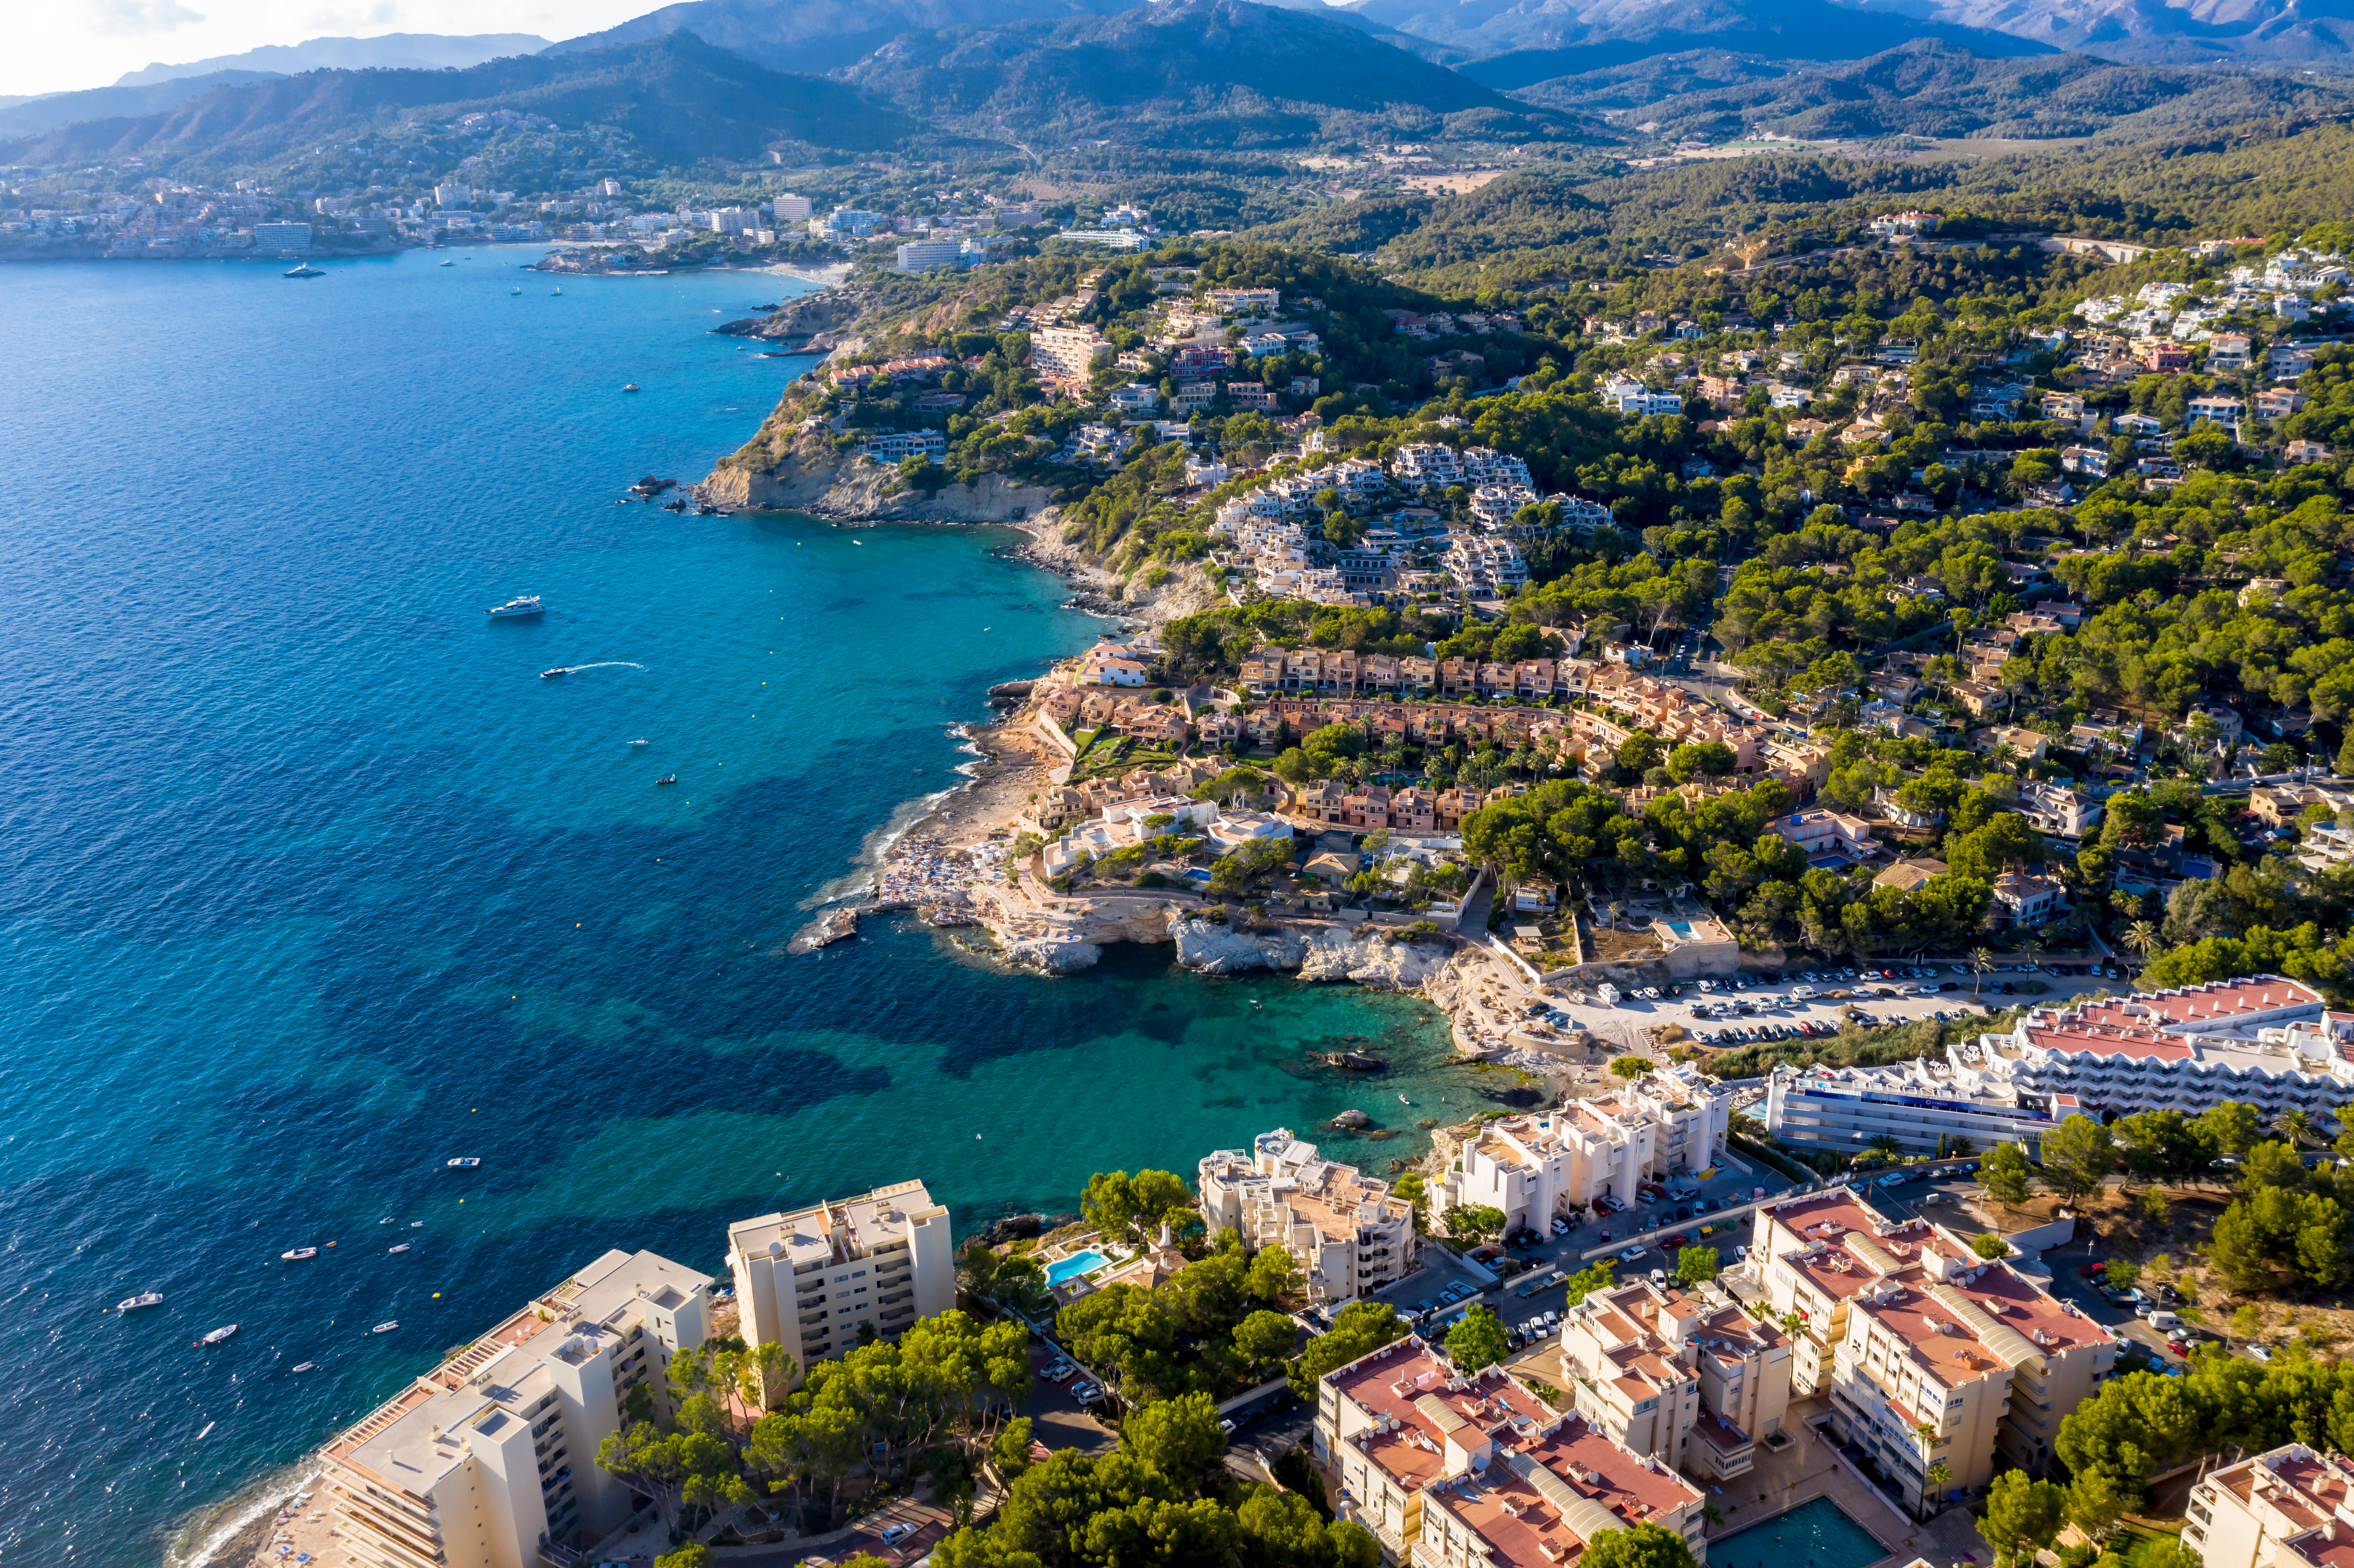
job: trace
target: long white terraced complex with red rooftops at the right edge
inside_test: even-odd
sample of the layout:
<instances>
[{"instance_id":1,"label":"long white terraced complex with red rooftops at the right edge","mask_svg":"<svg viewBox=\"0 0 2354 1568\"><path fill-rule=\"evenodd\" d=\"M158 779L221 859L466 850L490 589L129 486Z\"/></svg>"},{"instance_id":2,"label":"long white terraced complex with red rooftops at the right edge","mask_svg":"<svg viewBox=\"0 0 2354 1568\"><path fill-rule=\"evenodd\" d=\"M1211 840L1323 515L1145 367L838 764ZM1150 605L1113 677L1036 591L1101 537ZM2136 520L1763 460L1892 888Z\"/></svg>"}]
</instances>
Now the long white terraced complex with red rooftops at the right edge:
<instances>
[{"instance_id":1,"label":"long white terraced complex with red rooftops at the right edge","mask_svg":"<svg viewBox=\"0 0 2354 1568\"><path fill-rule=\"evenodd\" d=\"M2335 1118L2354 1099L2354 1012L2257 975L2149 996L2036 1008L2010 1034L1947 1045L1961 1090L2074 1095L2088 1111L2199 1111L2236 1099L2267 1121Z\"/></svg>"}]
</instances>

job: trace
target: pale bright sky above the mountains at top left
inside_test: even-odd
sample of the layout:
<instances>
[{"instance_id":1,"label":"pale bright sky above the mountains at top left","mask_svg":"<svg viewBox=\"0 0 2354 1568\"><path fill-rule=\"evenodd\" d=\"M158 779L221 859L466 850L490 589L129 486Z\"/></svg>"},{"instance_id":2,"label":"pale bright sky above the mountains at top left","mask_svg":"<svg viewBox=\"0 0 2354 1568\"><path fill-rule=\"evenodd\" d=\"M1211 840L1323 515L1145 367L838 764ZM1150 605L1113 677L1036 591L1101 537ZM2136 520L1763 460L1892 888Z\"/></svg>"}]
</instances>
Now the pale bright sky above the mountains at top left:
<instances>
[{"instance_id":1,"label":"pale bright sky above the mountains at top left","mask_svg":"<svg viewBox=\"0 0 2354 1568\"><path fill-rule=\"evenodd\" d=\"M661 0L7 0L0 94L106 87L125 71L306 38L539 33L574 38Z\"/></svg>"}]
</instances>

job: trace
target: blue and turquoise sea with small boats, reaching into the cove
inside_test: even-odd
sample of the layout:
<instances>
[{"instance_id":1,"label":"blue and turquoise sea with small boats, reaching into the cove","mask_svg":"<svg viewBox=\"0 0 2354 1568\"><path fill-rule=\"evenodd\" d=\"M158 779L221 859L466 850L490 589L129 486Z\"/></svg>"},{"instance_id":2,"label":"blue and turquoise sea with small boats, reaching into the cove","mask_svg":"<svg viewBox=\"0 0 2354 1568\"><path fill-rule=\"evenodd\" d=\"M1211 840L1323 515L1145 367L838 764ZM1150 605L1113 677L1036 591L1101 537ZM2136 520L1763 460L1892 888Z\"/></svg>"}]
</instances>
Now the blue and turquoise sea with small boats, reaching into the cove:
<instances>
[{"instance_id":1,"label":"blue and turquoise sea with small boats, reaching into the cove","mask_svg":"<svg viewBox=\"0 0 2354 1568\"><path fill-rule=\"evenodd\" d=\"M786 956L1099 622L1017 534L614 504L756 428L805 363L709 330L800 285L534 254L0 273L0 1563L200 1559L612 1245L718 1271L730 1220L902 1177L977 1229L1351 1104L1379 1170L1398 1092L1495 1092L1429 1008L1168 949ZM1306 1064L1351 1034L1396 1069Z\"/></svg>"}]
</instances>

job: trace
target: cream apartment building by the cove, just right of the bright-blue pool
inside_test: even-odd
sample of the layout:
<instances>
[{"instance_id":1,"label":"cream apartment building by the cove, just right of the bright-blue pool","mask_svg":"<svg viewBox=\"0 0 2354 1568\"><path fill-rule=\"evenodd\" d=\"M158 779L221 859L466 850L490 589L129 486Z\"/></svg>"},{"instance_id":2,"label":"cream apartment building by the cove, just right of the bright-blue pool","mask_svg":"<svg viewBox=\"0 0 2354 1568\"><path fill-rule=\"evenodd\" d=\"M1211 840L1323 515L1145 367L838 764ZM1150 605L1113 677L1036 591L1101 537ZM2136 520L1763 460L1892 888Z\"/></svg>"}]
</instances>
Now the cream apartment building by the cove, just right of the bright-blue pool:
<instances>
[{"instance_id":1,"label":"cream apartment building by the cove, just right of the bright-blue pool","mask_svg":"<svg viewBox=\"0 0 2354 1568\"><path fill-rule=\"evenodd\" d=\"M1201 1212L1252 1248L1283 1248L1306 1276L1309 1300L1351 1302L1415 1271L1415 1208L1389 1182L1337 1165L1290 1128L1201 1161Z\"/></svg>"}]
</instances>

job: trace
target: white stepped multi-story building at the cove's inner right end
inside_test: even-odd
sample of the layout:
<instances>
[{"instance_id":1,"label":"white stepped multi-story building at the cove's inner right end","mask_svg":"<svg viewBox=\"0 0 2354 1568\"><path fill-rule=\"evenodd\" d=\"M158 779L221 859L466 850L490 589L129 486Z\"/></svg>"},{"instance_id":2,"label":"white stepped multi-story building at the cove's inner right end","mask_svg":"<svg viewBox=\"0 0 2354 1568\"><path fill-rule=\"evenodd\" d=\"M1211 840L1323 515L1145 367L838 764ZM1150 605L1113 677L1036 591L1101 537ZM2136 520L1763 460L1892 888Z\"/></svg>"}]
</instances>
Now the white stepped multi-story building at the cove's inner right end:
<instances>
[{"instance_id":1,"label":"white stepped multi-story building at the cove's inner right end","mask_svg":"<svg viewBox=\"0 0 2354 1568\"><path fill-rule=\"evenodd\" d=\"M1434 1203L1504 1210L1537 1231L1594 1198L1634 1201L1636 1182L1697 1175L1725 1149L1733 1092L1695 1067L1636 1078L1615 1095L1481 1128L1436 1184Z\"/></svg>"}]
</instances>

